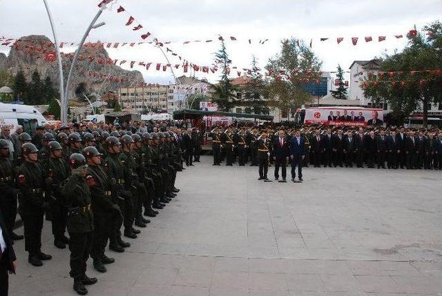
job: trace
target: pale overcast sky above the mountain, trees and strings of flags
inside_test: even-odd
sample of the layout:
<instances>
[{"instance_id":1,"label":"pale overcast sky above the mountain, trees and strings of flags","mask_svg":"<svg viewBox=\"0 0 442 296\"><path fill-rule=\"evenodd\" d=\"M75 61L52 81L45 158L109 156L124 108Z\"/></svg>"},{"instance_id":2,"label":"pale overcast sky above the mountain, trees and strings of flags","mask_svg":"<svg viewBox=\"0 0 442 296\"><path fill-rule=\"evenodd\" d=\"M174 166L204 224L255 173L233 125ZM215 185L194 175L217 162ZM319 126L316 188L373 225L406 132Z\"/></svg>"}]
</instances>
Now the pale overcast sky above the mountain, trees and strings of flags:
<instances>
[{"instance_id":1,"label":"pale overcast sky above the mountain, trees and strings of flags","mask_svg":"<svg viewBox=\"0 0 442 296\"><path fill-rule=\"evenodd\" d=\"M81 39L99 3L95 0L48 2L59 41L73 42ZM133 31L132 27L124 26L128 16L124 12L117 14L120 5L142 23L142 30ZM19 38L46 34L53 41L43 1L0 0L0 13L0 35ZM226 43L232 66L248 68L252 55L256 55L260 66L265 66L269 57L278 52L281 39L296 37L306 43L313 39L313 50L322 59L323 70L335 71L338 63L348 69L354 60L372 59L385 50L390 53L401 50L406 39L396 39L394 34L405 36L414 25L419 29L441 17L442 0L119 0L112 10L103 12L99 21L105 21L106 26L93 30L88 41L138 42L142 41L140 34L146 29L162 41L172 41L170 48L189 61L210 66L213 52L219 48L218 42L187 45L182 42L216 40L219 34L224 39L234 36L238 41ZM387 40L378 43L378 35L387 36ZM365 43L365 36L372 36L374 40ZM330 39L320 42L320 37ZM345 39L338 45L336 37ZM357 46L352 45L351 37L359 37ZM252 44L248 39L253 39ZM269 41L260 45L260 39ZM0 51L8 52L8 48L0 46ZM166 63L160 50L148 44L108 51L113 59ZM169 58L172 64L180 63L170 54ZM148 71L137 66L134 69L140 70L148 83L173 82L170 71L157 72L155 67ZM175 74L182 75L182 68ZM215 81L219 73L197 72L197 76Z\"/></svg>"}]
</instances>

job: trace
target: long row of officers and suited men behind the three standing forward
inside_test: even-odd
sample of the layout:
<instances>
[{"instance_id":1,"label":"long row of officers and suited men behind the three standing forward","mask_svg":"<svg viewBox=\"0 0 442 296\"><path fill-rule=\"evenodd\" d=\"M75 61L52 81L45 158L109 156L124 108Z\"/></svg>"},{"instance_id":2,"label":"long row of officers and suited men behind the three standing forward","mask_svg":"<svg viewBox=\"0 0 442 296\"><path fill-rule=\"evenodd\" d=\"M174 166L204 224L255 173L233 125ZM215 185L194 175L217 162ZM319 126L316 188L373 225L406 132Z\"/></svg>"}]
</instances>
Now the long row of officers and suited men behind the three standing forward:
<instances>
[{"instance_id":1,"label":"long row of officers and suited men behind the three standing forward","mask_svg":"<svg viewBox=\"0 0 442 296\"><path fill-rule=\"evenodd\" d=\"M259 165L259 140L267 135L269 164L276 157L274 151L279 143L280 133L287 143L296 130L258 130L258 128L214 128L208 136L212 139L213 166L226 161L232 166L238 160L239 166L250 161L250 166ZM305 141L303 166L363 168L407 168L442 170L442 132L425 130L365 129L345 130L331 128L301 129ZM289 157L289 155L287 155Z\"/></svg>"}]
</instances>

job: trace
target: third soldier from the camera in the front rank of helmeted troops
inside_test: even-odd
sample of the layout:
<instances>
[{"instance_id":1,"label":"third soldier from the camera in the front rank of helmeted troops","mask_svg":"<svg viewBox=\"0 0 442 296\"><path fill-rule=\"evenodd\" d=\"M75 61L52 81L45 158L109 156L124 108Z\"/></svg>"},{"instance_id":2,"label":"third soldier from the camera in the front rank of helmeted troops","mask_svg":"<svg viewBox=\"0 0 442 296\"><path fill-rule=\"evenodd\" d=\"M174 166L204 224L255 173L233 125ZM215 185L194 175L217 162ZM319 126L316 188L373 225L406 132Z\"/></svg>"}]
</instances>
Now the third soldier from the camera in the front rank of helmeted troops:
<instances>
[{"instance_id":1,"label":"third soldier from the camera in the front rank of helmeted troops","mask_svg":"<svg viewBox=\"0 0 442 296\"><path fill-rule=\"evenodd\" d=\"M128 184L126 184L126 180L124 179L126 177L124 164L119 160L121 144L117 137L113 136L106 139L106 144L108 148L108 157L106 157L104 166L106 167L108 176L113 182L113 198L117 201L119 208L122 210L124 218L124 236L136 239L137 235L133 232L132 228L132 195L131 191L128 190Z\"/></svg>"}]
</instances>

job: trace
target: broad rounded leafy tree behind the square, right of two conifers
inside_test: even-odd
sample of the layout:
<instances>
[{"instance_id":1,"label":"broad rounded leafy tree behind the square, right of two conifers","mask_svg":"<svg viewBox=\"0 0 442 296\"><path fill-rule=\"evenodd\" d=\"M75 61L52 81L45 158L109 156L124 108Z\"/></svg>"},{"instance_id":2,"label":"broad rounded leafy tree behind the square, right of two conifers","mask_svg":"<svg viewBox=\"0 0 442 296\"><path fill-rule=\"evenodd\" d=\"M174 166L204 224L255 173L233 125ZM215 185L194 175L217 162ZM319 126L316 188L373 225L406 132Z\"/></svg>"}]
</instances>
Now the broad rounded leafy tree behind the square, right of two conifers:
<instances>
[{"instance_id":1,"label":"broad rounded leafy tree behind the square, right of two conifers","mask_svg":"<svg viewBox=\"0 0 442 296\"><path fill-rule=\"evenodd\" d=\"M311 95L305 90L305 83L320 78L322 61L314 52L298 39L281 41L281 50L269 59L266 69L269 71L269 106L279 108L283 113L292 108L300 108L311 101Z\"/></svg>"}]
</instances>

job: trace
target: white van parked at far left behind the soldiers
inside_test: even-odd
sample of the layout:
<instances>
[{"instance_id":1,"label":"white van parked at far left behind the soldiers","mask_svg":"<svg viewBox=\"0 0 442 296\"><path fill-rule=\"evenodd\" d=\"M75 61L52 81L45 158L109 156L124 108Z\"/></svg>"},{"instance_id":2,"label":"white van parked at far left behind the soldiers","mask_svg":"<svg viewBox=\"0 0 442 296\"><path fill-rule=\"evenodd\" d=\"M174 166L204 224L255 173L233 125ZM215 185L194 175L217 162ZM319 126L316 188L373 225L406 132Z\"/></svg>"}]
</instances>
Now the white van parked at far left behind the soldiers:
<instances>
[{"instance_id":1,"label":"white van parked at far left behind the soldiers","mask_svg":"<svg viewBox=\"0 0 442 296\"><path fill-rule=\"evenodd\" d=\"M20 125L24 132L32 135L37 125L44 126L46 122L46 118L32 106L0 103L0 126L8 125L11 134Z\"/></svg>"}]
</instances>

